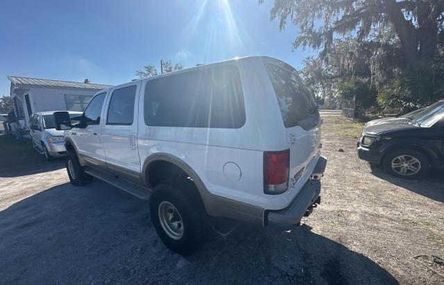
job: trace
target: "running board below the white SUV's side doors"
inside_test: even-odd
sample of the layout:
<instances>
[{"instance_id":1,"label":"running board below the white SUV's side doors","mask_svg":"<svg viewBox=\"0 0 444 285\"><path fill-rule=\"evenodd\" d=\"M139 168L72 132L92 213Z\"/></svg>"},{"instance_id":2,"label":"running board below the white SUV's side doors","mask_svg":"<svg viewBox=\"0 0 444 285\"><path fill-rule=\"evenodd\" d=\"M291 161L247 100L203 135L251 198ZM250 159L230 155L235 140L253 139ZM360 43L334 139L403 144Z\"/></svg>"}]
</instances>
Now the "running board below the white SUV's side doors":
<instances>
[{"instance_id":1,"label":"running board below the white SUV's side doors","mask_svg":"<svg viewBox=\"0 0 444 285\"><path fill-rule=\"evenodd\" d=\"M104 182L111 184L114 187L117 187L127 193L130 193L133 196L136 196L142 200L148 200L151 196L151 190L148 188L140 187L134 183L128 182L127 180L119 179L114 175L110 175L105 171L100 171L97 169L87 168L85 172L89 175L94 176L95 178L99 178Z\"/></svg>"}]
</instances>

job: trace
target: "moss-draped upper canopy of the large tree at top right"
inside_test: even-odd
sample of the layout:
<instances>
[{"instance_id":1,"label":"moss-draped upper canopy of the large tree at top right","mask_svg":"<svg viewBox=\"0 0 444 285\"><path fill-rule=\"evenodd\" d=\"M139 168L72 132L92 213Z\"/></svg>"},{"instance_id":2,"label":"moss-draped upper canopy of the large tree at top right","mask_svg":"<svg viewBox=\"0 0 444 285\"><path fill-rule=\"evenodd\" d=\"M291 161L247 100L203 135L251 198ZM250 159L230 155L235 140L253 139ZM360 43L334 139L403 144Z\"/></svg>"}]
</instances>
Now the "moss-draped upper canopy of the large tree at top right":
<instances>
[{"instance_id":1,"label":"moss-draped upper canopy of the large tree at top right","mask_svg":"<svg viewBox=\"0 0 444 285\"><path fill-rule=\"evenodd\" d=\"M442 0L275 0L275 18L281 30L287 19L298 26L294 49L323 48L324 54L341 35L366 40L380 28L391 28L400 42L403 69L427 67L444 42Z\"/></svg>"}]
</instances>

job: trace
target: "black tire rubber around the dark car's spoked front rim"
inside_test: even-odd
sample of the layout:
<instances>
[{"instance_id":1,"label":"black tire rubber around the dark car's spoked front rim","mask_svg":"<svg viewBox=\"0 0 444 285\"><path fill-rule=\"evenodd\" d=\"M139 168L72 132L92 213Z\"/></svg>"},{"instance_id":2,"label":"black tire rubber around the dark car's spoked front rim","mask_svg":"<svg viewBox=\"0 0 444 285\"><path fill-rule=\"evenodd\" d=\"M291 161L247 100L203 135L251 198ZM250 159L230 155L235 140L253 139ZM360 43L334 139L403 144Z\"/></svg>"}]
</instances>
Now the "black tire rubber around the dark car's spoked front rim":
<instances>
[{"instance_id":1,"label":"black tire rubber around the dark car's spoked front rim","mask_svg":"<svg viewBox=\"0 0 444 285\"><path fill-rule=\"evenodd\" d=\"M404 156L404 162L402 162L402 159L399 159L397 157ZM407 170L405 174L402 174L401 167L392 167L392 162L396 165L404 163L407 163L407 165L411 162L414 162L412 159L416 159L418 163L413 164L415 168L419 170L418 171L411 171ZM404 164L405 165L405 164ZM409 179L419 179L424 177L424 175L429 172L430 169L430 160L427 155L424 153L411 149L411 148L400 148L391 150L389 153L387 153L384 156L384 159L382 161L382 166L384 167L384 171L387 173L390 173L391 175L394 175L399 178L409 178Z\"/></svg>"}]
</instances>

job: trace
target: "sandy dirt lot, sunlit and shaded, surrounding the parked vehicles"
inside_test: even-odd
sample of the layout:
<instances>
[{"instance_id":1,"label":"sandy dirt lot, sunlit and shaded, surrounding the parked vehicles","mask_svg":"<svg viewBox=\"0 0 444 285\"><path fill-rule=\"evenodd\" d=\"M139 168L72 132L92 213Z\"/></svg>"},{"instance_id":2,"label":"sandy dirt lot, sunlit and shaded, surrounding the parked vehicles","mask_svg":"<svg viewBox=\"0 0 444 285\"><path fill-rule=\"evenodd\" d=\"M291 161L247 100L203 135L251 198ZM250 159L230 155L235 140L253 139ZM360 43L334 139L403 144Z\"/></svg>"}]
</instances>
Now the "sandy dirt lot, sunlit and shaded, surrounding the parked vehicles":
<instances>
[{"instance_id":1,"label":"sandy dirt lot, sunlit and shaded, surrounding the parked vehicles","mask_svg":"<svg viewBox=\"0 0 444 285\"><path fill-rule=\"evenodd\" d=\"M147 202L72 187L63 160L0 169L0 284L443 284L444 178L371 171L360 132L324 117L322 204L301 227L210 232L186 258L157 238Z\"/></svg>"}]
</instances>

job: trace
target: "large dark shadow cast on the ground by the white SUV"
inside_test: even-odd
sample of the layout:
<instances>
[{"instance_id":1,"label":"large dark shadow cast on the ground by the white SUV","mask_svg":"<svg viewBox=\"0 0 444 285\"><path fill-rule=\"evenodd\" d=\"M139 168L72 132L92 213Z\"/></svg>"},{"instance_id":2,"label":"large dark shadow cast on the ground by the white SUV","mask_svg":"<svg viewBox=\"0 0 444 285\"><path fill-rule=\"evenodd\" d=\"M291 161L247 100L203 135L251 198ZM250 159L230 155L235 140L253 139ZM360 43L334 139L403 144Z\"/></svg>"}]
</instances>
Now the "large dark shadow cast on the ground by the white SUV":
<instances>
[{"instance_id":1,"label":"large dark shadow cast on the ground by the white SUV","mask_svg":"<svg viewBox=\"0 0 444 285\"><path fill-rule=\"evenodd\" d=\"M242 225L208 239L180 257L157 238L146 201L104 182L62 184L0 212L0 283L397 283L307 226Z\"/></svg>"}]
</instances>

